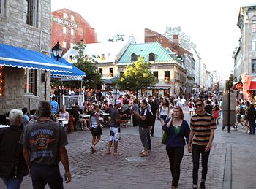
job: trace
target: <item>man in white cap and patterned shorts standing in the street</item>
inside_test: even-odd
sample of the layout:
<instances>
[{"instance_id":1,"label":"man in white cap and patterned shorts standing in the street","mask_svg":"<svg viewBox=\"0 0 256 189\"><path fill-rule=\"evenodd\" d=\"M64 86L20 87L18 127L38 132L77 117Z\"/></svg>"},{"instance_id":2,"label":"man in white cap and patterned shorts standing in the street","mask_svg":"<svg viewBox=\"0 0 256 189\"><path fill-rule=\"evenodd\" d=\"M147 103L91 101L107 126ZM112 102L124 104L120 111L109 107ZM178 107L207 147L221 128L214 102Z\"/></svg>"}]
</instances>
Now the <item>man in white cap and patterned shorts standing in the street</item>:
<instances>
[{"instance_id":1,"label":"man in white cap and patterned shorts standing in the street","mask_svg":"<svg viewBox=\"0 0 256 189\"><path fill-rule=\"evenodd\" d=\"M118 108L121 107L121 101L116 100L115 107L110 112L111 123L110 123L110 139L108 142L108 150L106 154L110 154L110 148L112 143L114 142L114 153L113 155L121 155L121 153L117 152L118 140L120 139L120 123L127 123L128 120L121 120L121 117L125 117L127 115L120 115Z\"/></svg>"}]
</instances>

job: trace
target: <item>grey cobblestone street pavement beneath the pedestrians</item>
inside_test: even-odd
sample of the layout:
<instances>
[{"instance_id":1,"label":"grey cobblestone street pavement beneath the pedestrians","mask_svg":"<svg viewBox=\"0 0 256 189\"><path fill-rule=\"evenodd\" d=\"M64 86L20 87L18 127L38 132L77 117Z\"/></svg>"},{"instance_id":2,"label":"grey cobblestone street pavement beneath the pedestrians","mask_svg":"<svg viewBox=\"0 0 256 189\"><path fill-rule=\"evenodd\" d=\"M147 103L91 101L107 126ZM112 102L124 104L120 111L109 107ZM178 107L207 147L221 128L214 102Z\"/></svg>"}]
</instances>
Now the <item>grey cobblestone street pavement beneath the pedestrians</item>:
<instances>
[{"instance_id":1,"label":"grey cobblestone street pavement beneath the pedestrians","mask_svg":"<svg viewBox=\"0 0 256 189\"><path fill-rule=\"evenodd\" d=\"M185 119L189 121L187 111L184 112ZM206 188L255 188L256 163L253 160L256 152L252 146L255 136L245 134L241 128L228 134L221 127L219 125L216 130L211 148ZM104 128L102 140L94 154L91 154L89 132L67 134L72 182L64 184L64 188L170 188L170 168L165 145L160 142L162 133L158 120L155 137L151 138L152 152L148 157L139 156L143 147L137 127L121 128L118 151L123 155L118 157L105 155L108 134L108 128ZM0 188L5 188L2 181ZM31 178L25 177L21 189L29 188L32 188ZM187 147L181 163L178 188L192 188L192 154L187 153Z\"/></svg>"}]
</instances>

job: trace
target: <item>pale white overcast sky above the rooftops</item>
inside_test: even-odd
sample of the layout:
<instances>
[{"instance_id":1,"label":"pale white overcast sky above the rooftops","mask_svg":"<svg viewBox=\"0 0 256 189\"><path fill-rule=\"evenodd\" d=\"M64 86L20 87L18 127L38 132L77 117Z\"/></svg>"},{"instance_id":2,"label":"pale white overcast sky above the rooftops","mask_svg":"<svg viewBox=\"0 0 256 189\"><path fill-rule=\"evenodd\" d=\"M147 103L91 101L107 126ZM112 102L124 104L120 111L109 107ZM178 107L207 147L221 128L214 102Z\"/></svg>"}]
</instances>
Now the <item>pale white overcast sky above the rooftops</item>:
<instances>
[{"instance_id":1,"label":"pale white overcast sky above the rooftops","mask_svg":"<svg viewBox=\"0 0 256 189\"><path fill-rule=\"evenodd\" d=\"M116 34L133 34L143 42L144 28L162 34L167 26L181 31L197 45L206 69L233 70L233 50L238 46L239 9L255 0L52 0L52 11L67 8L78 12L95 28L97 40L106 42Z\"/></svg>"}]
</instances>

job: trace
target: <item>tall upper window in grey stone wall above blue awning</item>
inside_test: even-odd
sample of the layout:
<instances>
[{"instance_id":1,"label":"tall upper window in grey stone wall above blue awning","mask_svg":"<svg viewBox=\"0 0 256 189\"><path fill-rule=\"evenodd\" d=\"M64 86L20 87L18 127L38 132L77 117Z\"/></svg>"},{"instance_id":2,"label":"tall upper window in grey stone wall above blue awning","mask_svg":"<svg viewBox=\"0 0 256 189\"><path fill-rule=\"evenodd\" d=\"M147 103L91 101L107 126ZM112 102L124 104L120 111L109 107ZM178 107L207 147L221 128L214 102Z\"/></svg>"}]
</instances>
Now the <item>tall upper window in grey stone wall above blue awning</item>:
<instances>
[{"instance_id":1,"label":"tall upper window in grey stone wall above blue awning","mask_svg":"<svg viewBox=\"0 0 256 189\"><path fill-rule=\"evenodd\" d=\"M38 0L26 0L26 23L37 27Z\"/></svg>"}]
</instances>

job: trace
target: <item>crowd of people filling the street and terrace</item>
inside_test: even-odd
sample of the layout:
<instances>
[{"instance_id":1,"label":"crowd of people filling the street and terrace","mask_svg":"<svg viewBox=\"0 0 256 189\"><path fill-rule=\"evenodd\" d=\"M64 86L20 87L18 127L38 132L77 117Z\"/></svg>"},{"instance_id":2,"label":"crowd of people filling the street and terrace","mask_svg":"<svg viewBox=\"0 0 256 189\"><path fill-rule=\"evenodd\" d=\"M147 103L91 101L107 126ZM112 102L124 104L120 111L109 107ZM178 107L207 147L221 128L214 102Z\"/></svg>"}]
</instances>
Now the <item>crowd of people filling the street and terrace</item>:
<instances>
[{"instance_id":1,"label":"crowd of people filling the street and terrace","mask_svg":"<svg viewBox=\"0 0 256 189\"><path fill-rule=\"evenodd\" d=\"M246 124L249 125L250 133L255 134L255 108L248 102L246 102L245 108L240 103L240 101L236 101L236 126L239 123L243 124L241 122L241 117L243 117L245 122L247 120ZM142 150L139 152L141 157L150 156L155 121L158 120L161 123L162 134L167 136L165 144L173 177L172 189L178 187L180 165L186 144L188 152L192 153L193 188L198 187L200 156L202 158L200 188L205 188L214 130L222 115L222 98L214 99L198 95L189 96L189 99L184 96L157 98L150 95L146 99L136 99L127 94L118 96L118 99L111 104L107 99L98 95L97 98L86 99L83 106L75 103L68 111L66 107L61 107L61 109L58 107L53 96L50 102L39 102L37 111L33 115L33 121L27 120L25 116L27 109L22 109L22 112L13 109L10 112L10 128L0 129L0 150L5 152L5 155L0 157L0 164L8 162L9 165L0 166L0 177L4 179L7 188L10 185L19 186L27 174L31 174L34 188L44 188L47 183L50 188L63 188L59 173L59 161L64 165L64 180L71 181L65 148L68 144L65 127L72 132L76 128L75 124L79 123L85 131L91 131L91 153L96 153L97 144L102 136L102 127L107 122L110 136L105 154L120 156L122 155L118 151L118 141L121 137L120 128L127 127L129 120L131 120L132 126L138 126L142 144ZM189 123L184 120L183 111L187 108L191 116ZM242 109L245 112L244 116L241 116ZM107 116L100 119L102 112ZM240 116L238 116L239 112ZM81 117L84 114L89 117ZM254 121L251 116L254 117ZM62 124L58 122L57 117L61 118ZM251 128L253 123L254 127ZM5 143L2 144L3 137L5 137L5 143L10 143L8 146L5 146ZM10 147L14 150L8 151ZM14 158L9 158L15 155L19 158L18 162ZM4 171L7 169L9 171Z\"/></svg>"}]
</instances>

